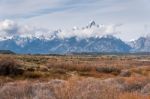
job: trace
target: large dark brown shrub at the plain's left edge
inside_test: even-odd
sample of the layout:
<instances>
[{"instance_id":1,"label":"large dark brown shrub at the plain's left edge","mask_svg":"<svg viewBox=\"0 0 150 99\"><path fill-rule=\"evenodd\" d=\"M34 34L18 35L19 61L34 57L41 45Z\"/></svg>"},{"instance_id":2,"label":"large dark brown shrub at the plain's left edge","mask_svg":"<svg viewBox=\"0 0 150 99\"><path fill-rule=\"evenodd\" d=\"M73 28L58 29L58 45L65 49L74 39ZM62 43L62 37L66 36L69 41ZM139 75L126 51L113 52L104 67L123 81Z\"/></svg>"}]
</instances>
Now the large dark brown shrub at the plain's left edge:
<instances>
[{"instance_id":1,"label":"large dark brown shrub at the plain's left edge","mask_svg":"<svg viewBox=\"0 0 150 99\"><path fill-rule=\"evenodd\" d=\"M0 60L0 75L21 75L24 69L15 60L3 58Z\"/></svg>"}]
</instances>

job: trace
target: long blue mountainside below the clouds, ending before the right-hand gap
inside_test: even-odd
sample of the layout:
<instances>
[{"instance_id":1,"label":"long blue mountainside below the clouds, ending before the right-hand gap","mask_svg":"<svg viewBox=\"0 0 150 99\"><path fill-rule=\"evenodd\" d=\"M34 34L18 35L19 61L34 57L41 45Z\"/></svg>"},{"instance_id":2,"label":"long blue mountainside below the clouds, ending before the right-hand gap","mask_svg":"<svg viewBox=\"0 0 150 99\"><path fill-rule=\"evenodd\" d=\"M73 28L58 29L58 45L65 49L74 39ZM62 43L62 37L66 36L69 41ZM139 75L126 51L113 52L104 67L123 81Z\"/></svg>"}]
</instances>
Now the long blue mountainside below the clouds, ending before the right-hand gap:
<instances>
[{"instance_id":1,"label":"long blue mountainside below the clouds, ending before the right-hand gap","mask_svg":"<svg viewBox=\"0 0 150 99\"><path fill-rule=\"evenodd\" d=\"M113 36L104 36L80 40L77 37L51 40L9 39L0 42L0 49L17 53L128 52L130 46Z\"/></svg>"}]
</instances>

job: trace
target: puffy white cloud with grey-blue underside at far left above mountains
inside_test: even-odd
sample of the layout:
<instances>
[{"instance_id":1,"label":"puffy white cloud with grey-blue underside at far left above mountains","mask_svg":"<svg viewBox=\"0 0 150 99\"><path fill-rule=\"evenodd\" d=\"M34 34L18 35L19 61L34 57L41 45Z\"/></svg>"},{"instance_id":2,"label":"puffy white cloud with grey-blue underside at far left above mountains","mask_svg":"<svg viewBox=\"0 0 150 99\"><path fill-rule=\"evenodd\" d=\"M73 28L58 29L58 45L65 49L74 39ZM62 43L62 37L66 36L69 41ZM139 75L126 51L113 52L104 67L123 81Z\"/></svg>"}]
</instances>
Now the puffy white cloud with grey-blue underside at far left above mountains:
<instances>
[{"instance_id":1,"label":"puffy white cloud with grey-blue underside at far left above mountains","mask_svg":"<svg viewBox=\"0 0 150 99\"><path fill-rule=\"evenodd\" d=\"M19 37L36 37L50 39L53 31L46 28L34 27L30 25L20 25L13 20L0 21L0 39Z\"/></svg>"}]
</instances>

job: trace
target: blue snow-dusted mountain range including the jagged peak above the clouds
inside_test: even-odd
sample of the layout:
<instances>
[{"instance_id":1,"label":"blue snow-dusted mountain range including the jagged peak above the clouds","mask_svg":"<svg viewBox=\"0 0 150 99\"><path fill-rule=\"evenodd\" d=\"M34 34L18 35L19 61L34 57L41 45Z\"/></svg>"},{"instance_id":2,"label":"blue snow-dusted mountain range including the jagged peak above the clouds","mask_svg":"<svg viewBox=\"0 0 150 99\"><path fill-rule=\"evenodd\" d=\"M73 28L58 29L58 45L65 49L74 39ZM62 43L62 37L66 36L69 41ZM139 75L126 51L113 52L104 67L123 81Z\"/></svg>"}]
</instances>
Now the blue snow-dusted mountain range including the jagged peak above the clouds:
<instances>
[{"instance_id":1,"label":"blue snow-dusted mountain range including the jagged peak above the clouds","mask_svg":"<svg viewBox=\"0 0 150 99\"><path fill-rule=\"evenodd\" d=\"M102 25L94 21L86 27L74 27L72 32L98 32ZM84 31L84 32L83 32ZM150 37L140 37L131 42L124 42L111 33L101 36L77 37L75 35L61 38L57 34L61 30L53 31L50 36L6 36L0 37L0 50L11 50L22 54L65 54L72 52L150 52ZM91 33L91 34L92 34Z\"/></svg>"}]
</instances>

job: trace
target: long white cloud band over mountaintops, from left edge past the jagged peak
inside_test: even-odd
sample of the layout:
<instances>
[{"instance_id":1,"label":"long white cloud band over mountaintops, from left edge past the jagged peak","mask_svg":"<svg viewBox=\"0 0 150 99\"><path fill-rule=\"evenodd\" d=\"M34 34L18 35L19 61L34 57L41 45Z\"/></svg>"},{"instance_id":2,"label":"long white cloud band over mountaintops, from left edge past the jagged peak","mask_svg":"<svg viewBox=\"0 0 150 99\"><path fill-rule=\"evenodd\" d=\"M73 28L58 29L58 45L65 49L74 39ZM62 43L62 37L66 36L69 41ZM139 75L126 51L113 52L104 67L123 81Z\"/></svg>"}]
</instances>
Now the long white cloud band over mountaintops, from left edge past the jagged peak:
<instances>
[{"instance_id":1,"label":"long white cloud band over mountaintops, from left edge past the jagged peak","mask_svg":"<svg viewBox=\"0 0 150 99\"><path fill-rule=\"evenodd\" d=\"M12 20L0 21L0 34L2 37L23 36L23 37L45 37L51 38L57 36L58 38L77 37L79 39L90 37L102 37L104 35L116 35L119 33L116 28L121 24L103 25L97 24L95 21L89 22L84 27L73 27L72 29L58 29L50 30L46 28L33 27L28 25L20 25Z\"/></svg>"}]
</instances>

